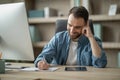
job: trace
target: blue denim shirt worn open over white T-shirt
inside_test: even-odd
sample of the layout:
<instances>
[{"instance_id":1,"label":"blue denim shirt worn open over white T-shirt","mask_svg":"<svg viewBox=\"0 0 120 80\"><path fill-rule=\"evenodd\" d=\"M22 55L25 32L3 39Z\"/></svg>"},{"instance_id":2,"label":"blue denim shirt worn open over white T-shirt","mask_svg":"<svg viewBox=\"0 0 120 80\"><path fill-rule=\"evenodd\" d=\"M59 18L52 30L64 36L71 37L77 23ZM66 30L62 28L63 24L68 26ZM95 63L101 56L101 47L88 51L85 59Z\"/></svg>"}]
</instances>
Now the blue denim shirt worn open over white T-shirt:
<instances>
[{"instance_id":1,"label":"blue denim shirt worn open over white T-shirt","mask_svg":"<svg viewBox=\"0 0 120 80\"><path fill-rule=\"evenodd\" d=\"M80 66L94 66L94 67L105 67L107 64L107 57L102 48L102 42L100 39L95 37L97 43L101 47L101 57L97 58L93 56L90 42L87 37L81 35L78 40L77 47L77 64ZM50 42L43 48L42 52L35 60L35 66L37 62L43 60L43 58L52 64L65 65L70 47L70 36L68 31L57 33Z\"/></svg>"}]
</instances>

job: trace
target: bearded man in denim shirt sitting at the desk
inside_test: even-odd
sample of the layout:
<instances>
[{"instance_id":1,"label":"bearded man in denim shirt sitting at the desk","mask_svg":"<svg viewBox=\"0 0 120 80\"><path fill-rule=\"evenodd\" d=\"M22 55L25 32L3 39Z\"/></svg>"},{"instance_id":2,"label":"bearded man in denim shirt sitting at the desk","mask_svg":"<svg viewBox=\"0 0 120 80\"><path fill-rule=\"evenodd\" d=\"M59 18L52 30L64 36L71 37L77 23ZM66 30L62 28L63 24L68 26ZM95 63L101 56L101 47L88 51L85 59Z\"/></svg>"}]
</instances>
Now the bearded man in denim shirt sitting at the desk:
<instances>
[{"instance_id":1,"label":"bearded man in denim shirt sitting at the desk","mask_svg":"<svg viewBox=\"0 0 120 80\"><path fill-rule=\"evenodd\" d=\"M88 17L86 8L73 7L69 11L67 31L55 34L36 58L36 67L48 69L50 64L105 67L107 59L102 42L93 36Z\"/></svg>"}]
</instances>

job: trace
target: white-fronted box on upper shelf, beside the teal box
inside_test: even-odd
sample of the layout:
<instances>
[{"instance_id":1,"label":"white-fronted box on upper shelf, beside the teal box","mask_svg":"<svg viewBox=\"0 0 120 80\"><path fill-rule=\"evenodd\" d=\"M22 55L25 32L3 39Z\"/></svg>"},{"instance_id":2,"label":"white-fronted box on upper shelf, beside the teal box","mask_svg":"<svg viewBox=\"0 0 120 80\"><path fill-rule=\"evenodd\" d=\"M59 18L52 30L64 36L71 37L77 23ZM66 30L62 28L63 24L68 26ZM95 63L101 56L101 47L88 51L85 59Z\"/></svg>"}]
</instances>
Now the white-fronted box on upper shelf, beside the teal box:
<instances>
[{"instance_id":1,"label":"white-fronted box on upper shelf, beside the teal box","mask_svg":"<svg viewBox=\"0 0 120 80\"><path fill-rule=\"evenodd\" d=\"M45 18L58 16L58 11L54 8L45 7L44 16Z\"/></svg>"}]
</instances>

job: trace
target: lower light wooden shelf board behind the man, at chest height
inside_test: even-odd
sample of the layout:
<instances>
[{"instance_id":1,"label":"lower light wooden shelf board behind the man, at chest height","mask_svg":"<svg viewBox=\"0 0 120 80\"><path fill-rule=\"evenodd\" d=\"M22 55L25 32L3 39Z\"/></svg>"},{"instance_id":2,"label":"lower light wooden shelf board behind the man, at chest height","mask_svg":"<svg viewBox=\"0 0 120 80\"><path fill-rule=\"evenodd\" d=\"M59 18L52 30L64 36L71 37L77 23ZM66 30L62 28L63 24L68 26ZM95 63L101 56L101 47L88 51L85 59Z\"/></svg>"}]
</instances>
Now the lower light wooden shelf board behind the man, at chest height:
<instances>
[{"instance_id":1,"label":"lower light wooden shelf board behind the man, at chest height","mask_svg":"<svg viewBox=\"0 0 120 80\"><path fill-rule=\"evenodd\" d=\"M33 46L35 48L42 48L47 43L48 43L48 41L36 42L36 43L33 43ZM103 42L102 44L103 44L103 48L104 49L120 49L120 43L116 43L116 42Z\"/></svg>"}]
</instances>

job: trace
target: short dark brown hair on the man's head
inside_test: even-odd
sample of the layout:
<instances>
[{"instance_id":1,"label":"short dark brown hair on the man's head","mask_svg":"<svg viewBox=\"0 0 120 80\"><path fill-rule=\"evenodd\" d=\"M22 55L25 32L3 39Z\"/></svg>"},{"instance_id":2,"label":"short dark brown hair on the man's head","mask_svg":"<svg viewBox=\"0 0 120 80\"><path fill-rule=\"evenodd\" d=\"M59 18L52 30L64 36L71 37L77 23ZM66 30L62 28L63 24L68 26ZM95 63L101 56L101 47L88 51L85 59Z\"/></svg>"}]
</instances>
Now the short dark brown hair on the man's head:
<instances>
[{"instance_id":1,"label":"short dark brown hair on the man's head","mask_svg":"<svg viewBox=\"0 0 120 80\"><path fill-rule=\"evenodd\" d=\"M85 23L87 23L88 21L89 13L87 9L83 6L73 7L72 9L70 9L68 15L70 14L73 14L75 18L80 18L80 17L83 18Z\"/></svg>"}]
</instances>

